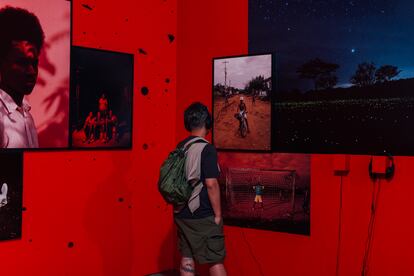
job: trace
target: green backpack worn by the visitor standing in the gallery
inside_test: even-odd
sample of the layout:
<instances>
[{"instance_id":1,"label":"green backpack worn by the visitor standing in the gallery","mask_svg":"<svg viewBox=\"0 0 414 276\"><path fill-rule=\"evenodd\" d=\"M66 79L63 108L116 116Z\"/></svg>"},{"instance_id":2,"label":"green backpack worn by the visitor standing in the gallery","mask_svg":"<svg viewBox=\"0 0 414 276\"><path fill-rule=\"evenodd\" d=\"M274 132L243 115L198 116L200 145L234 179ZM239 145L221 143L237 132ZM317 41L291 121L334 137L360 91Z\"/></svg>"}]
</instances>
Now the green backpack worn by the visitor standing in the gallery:
<instances>
[{"instance_id":1,"label":"green backpack worn by the visitor standing in the gallery","mask_svg":"<svg viewBox=\"0 0 414 276\"><path fill-rule=\"evenodd\" d=\"M187 146L177 147L162 164L158 190L167 203L180 206L186 204L190 199L193 187L186 178L186 153L194 143L200 141L203 139L195 138L187 143Z\"/></svg>"}]
</instances>

